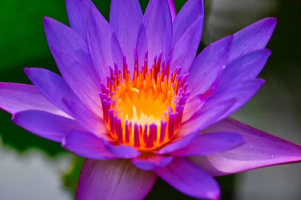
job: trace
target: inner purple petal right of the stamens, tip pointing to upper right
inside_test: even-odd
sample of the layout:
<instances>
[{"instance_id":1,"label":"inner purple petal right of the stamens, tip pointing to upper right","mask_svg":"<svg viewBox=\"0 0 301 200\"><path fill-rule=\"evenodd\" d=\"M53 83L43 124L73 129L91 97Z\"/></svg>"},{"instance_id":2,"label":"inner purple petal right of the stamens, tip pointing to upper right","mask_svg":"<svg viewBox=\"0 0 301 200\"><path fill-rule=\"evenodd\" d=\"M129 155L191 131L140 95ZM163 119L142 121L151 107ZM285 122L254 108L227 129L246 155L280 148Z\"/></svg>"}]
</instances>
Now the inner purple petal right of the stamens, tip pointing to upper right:
<instances>
[{"instance_id":1,"label":"inner purple petal right of the stamens, tip pointing to upper right","mask_svg":"<svg viewBox=\"0 0 301 200\"><path fill-rule=\"evenodd\" d=\"M187 78L190 96L204 93L227 63L233 35L224 37L207 46L194 60Z\"/></svg>"}]
</instances>

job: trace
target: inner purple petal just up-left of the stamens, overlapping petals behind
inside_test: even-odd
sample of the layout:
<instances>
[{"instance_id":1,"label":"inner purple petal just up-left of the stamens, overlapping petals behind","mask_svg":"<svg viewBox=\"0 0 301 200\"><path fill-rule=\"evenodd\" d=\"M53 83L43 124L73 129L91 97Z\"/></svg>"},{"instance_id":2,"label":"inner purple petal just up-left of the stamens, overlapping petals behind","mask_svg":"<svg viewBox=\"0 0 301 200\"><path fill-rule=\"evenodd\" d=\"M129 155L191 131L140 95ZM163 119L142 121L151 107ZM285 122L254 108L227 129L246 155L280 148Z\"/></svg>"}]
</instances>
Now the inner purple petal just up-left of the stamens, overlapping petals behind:
<instances>
[{"instance_id":1,"label":"inner purple petal just up-left of the stamens, overlapping petals behind","mask_svg":"<svg viewBox=\"0 0 301 200\"><path fill-rule=\"evenodd\" d=\"M122 50L113 28L97 9L90 8L87 23L89 52L101 81L105 82L109 66L116 63L123 70Z\"/></svg>"}]
</instances>

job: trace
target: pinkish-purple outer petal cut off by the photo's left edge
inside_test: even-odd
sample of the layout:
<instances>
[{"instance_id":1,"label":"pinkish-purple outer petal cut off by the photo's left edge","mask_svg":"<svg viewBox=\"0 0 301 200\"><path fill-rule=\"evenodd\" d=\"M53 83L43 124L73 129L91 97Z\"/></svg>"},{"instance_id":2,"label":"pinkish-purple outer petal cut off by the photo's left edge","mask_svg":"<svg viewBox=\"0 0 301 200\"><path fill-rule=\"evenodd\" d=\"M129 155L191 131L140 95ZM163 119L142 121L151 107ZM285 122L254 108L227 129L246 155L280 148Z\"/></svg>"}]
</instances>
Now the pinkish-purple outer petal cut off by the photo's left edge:
<instances>
[{"instance_id":1,"label":"pinkish-purple outer petal cut off by the photo's left edge","mask_svg":"<svg viewBox=\"0 0 301 200\"><path fill-rule=\"evenodd\" d=\"M0 82L0 107L11 114L25 110L42 110L70 118L41 94L35 85Z\"/></svg>"}]
</instances>

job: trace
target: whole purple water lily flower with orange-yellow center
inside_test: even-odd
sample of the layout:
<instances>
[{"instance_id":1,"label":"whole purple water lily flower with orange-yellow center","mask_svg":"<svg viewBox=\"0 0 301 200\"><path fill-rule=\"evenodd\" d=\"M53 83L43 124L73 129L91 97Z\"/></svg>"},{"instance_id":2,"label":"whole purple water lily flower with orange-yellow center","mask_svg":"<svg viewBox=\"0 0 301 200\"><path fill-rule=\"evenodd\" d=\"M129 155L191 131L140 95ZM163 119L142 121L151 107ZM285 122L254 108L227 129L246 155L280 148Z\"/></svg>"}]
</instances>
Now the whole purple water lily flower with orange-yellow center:
<instances>
[{"instance_id":1,"label":"whole purple water lily flower with orange-yellow center","mask_svg":"<svg viewBox=\"0 0 301 200\"><path fill-rule=\"evenodd\" d=\"M276 19L197 49L203 0L112 0L109 22L91 0L66 0L70 27L45 17L61 75L25 68L34 85L0 83L12 120L86 157L77 200L143 199L158 176L218 199L213 176L295 162L301 147L228 116L264 83L256 76Z\"/></svg>"}]
</instances>

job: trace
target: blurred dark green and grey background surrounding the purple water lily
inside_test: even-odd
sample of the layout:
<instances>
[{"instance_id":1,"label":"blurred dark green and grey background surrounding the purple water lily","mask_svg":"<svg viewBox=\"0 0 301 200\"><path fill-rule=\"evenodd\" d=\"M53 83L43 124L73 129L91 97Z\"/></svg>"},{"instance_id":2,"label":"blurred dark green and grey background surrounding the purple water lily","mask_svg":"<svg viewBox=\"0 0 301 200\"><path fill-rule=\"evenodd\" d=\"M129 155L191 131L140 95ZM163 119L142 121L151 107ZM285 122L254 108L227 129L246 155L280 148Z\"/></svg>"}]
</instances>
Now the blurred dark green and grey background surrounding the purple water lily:
<instances>
[{"instance_id":1,"label":"blurred dark green and grey background surrounding the purple water lily","mask_svg":"<svg viewBox=\"0 0 301 200\"><path fill-rule=\"evenodd\" d=\"M110 0L93 0L108 19ZM147 0L140 0L142 10ZM179 11L186 0L175 0ZM233 117L301 144L301 33L299 0L207 0L200 49L266 16L278 18L268 44L266 84ZM46 42L43 16L68 24L64 0L0 1L0 81L30 83L23 68L58 72ZM31 134L0 110L0 200L74 199L83 158ZM221 199L301 199L301 164L217 178ZM146 199L192 199L158 180Z\"/></svg>"}]
</instances>

